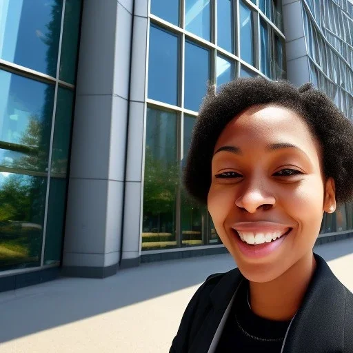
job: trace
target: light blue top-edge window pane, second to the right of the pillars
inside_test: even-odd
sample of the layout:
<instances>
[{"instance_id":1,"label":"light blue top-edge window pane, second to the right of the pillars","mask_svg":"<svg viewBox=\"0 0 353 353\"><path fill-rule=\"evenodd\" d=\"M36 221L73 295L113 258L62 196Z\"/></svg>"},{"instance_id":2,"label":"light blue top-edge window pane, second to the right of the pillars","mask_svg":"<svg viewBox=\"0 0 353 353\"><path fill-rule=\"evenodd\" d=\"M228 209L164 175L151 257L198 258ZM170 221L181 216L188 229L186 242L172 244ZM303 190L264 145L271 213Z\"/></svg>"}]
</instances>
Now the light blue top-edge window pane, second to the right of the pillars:
<instances>
[{"instance_id":1,"label":"light blue top-edge window pane, second to the right of the pillars","mask_svg":"<svg viewBox=\"0 0 353 353\"><path fill-rule=\"evenodd\" d=\"M185 30L210 41L210 0L185 0Z\"/></svg>"}]
</instances>

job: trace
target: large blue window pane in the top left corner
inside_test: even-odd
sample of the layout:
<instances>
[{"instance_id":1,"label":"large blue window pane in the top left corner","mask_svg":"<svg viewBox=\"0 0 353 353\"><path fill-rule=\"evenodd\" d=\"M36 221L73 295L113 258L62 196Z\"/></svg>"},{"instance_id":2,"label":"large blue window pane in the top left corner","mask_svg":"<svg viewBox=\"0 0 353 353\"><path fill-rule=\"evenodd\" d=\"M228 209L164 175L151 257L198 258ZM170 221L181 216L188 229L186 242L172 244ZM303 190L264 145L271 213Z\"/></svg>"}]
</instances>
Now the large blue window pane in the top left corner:
<instances>
[{"instance_id":1,"label":"large blue window pane in the top left corner","mask_svg":"<svg viewBox=\"0 0 353 353\"><path fill-rule=\"evenodd\" d=\"M63 0L0 2L1 59L57 74Z\"/></svg>"}]
</instances>

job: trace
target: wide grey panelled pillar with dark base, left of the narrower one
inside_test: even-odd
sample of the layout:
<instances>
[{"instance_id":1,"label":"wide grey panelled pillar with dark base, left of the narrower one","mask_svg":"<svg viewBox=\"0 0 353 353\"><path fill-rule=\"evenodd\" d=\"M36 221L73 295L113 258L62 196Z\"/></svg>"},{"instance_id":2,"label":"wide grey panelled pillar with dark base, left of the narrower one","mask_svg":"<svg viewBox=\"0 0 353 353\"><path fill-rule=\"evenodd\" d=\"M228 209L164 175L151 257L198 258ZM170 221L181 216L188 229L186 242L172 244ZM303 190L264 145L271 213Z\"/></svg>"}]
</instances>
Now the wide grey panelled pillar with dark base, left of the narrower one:
<instances>
[{"instance_id":1,"label":"wide grey panelled pillar with dark base, left of the narrower one","mask_svg":"<svg viewBox=\"0 0 353 353\"><path fill-rule=\"evenodd\" d=\"M70 276L109 276L121 260L132 9L133 0L83 1L63 250Z\"/></svg>"}]
</instances>

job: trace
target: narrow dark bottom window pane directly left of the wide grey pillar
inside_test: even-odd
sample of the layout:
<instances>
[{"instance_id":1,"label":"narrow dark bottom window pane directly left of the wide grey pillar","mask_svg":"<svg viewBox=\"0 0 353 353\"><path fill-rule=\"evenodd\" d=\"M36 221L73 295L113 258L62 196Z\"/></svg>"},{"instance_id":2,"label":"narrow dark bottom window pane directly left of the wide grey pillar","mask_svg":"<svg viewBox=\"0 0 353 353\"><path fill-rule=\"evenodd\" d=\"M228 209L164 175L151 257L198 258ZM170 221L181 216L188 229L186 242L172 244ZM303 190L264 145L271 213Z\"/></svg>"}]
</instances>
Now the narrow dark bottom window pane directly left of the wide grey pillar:
<instances>
[{"instance_id":1,"label":"narrow dark bottom window pane directly left of the wide grey pillar","mask_svg":"<svg viewBox=\"0 0 353 353\"><path fill-rule=\"evenodd\" d=\"M50 178L44 265L59 263L65 219L66 179Z\"/></svg>"}]
</instances>

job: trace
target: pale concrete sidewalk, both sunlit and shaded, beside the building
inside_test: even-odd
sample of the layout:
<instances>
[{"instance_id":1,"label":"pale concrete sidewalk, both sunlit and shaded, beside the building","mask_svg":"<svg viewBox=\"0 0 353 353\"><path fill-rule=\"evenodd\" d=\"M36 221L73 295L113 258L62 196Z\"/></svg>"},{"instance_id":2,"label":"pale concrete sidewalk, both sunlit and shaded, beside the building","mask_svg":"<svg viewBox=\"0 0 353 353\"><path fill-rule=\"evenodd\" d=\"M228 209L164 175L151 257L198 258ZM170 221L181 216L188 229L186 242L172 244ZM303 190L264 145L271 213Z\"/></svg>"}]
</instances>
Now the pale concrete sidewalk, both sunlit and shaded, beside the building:
<instances>
[{"instance_id":1,"label":"pale concrete sidewalk, both sunlit and shaded, beside the building","mask_svg":"<svg viewBox=\"0 0 353 353\"><path fill-rule=\"evenodd\" d=\"M353 292L353 239L315 252ZM0 294L0 353L168 352L183 310L230 255L150 263L107 279L72 279Z\"/></svg>"}]
</instances>

